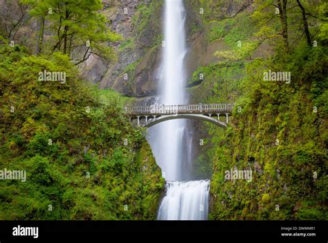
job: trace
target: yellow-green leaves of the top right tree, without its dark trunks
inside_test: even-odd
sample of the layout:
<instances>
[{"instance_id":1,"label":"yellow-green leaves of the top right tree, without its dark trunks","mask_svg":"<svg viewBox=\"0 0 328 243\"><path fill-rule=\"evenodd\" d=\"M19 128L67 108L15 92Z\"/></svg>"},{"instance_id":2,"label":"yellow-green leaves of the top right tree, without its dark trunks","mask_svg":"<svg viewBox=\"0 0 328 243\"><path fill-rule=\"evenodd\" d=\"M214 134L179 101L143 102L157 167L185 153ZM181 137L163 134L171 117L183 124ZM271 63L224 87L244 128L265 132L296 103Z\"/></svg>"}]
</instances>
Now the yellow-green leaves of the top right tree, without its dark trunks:
<instances>
[{"instance_id":1,"label":"yellow-green leaves of the top right tree, without its dark trunks","mask_svg":"<svg viewBox=\"0 0 328 243\"><path fill-rule=\"evenodd\" d=\"M283 46L283 42L287 42L289 45L293 45L293 40L295 39L298 39L300 42L306 42L303 26L304 19L298 3L286 1L286 12L284 13L282 9L277 8L277 2L277 0L255 1L255 11L253 12L252 19L259 29L255 35L256 38L259 42L267 40L269 44L277 48L277 51L281 51L282 48L286 47ZM325 39L325 21L327 22L327 19L320 15L325 15L325 12L327 12L327 3L313 3L308 0L301 0L300 3L305 9L307 25L311 26L309 28L310 39L311 36L316 36L316 33L320 31L318 37L323 43L323 39ZM282 21L284 15L286 15L286 24ZM323 23L318 25L318 19L322 19ZM286 36L283 33L284 27L286 28ZM302 30L301 33L300 30ZM288 52L289 48L284 51Z\"/></svg>"}]
</instances>

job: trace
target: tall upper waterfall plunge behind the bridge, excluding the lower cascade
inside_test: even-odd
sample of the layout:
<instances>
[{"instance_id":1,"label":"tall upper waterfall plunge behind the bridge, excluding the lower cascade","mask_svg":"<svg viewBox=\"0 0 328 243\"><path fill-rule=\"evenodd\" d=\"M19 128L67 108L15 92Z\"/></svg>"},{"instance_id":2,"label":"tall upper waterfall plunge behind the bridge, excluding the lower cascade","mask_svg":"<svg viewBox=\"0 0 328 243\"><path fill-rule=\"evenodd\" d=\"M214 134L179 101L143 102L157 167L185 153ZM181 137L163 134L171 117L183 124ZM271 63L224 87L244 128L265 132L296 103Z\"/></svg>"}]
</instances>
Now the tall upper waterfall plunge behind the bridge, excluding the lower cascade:
<instances>
[{"instance_id":1,"label":"tall upper waterfall plunge behind the bridge, excluding the lower cascade","mask_svg":"<svg viewBox=\"0 0 328 243\"><path fill-rule=\"evenodd\" d=\"M158 95L162 105L188 102L185 94L184 58L187 53L185 38L185 8L182 0L166 0L164 9L164 41L161 81ZM190 134L185 131L185 120L170 120L149 131L156 161L167 181L189 178L191 153ZM188 151L187 151L188 150ZM190 150L190 151L189 151Z\"/></svg>"}]
</instances>

